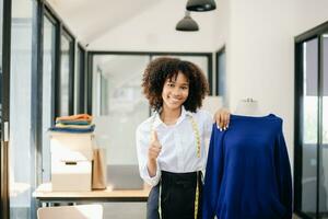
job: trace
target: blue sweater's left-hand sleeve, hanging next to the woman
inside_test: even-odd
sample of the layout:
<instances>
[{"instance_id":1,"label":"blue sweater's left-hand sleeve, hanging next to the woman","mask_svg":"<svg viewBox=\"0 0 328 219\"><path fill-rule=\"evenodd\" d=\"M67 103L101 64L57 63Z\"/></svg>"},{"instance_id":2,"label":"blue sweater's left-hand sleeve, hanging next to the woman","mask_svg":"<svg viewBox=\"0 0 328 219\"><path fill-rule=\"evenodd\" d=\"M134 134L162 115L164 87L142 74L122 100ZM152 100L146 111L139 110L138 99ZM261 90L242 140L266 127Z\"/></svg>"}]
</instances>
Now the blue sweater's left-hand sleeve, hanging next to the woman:
<instances>
[{"instance_id":1,"label":"blue sweater's left-hand sleeve, hanging next to the woman","mask_svg":"<svg viewBox=\"0 0 328 219\"><path fill-rule=\"evenodd\" d=\"M212 136L207 161L207 171L203 186L202 218L212 219L220 194L220 184L223 175L223 131L215 124L212 127Z\"/></svg>"}]
</instances>

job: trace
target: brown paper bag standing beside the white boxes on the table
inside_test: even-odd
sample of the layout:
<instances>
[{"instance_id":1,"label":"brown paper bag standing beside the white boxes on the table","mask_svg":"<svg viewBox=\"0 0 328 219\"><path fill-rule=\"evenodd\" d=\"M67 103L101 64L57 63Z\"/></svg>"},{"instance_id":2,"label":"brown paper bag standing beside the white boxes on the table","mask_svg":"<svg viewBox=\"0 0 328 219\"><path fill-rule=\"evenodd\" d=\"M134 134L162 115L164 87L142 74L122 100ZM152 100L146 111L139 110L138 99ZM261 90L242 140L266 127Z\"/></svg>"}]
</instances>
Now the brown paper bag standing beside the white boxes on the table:
<instances>
[{"instance_id":1,"label":"brown paper bag standing beside the white boxes on the table","mask_svg":"<svg viewBox=\"0 0 328 219\"><path fill-rule=\"evenodd\" d=\"M105 189L107 186L106 159L104 149L93 149L92 189Z\"/></svg>"}]
</instances>

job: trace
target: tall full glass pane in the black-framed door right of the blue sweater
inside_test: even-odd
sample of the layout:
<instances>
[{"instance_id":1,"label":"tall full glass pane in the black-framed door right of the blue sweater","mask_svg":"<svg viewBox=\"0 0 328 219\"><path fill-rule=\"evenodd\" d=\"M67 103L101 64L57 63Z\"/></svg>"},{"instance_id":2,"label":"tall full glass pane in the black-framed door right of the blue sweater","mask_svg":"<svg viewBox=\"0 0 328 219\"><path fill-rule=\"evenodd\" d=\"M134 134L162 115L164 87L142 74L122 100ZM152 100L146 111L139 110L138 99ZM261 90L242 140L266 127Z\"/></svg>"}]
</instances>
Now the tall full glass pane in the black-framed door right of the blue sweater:
<instances>
[{"instance_id":1,"label":"tall full glass pane in the black-framed door right of the blue sweater","mask_svg":"<svg viewBox=\"0 0 328 219\"><path fill-rule=\"evenodd\" d=\"M303 166L302 166L302 211L316 214L317 184L317 116L318 116L318 41L303 44Z\"/></svg>"}]
</instances>

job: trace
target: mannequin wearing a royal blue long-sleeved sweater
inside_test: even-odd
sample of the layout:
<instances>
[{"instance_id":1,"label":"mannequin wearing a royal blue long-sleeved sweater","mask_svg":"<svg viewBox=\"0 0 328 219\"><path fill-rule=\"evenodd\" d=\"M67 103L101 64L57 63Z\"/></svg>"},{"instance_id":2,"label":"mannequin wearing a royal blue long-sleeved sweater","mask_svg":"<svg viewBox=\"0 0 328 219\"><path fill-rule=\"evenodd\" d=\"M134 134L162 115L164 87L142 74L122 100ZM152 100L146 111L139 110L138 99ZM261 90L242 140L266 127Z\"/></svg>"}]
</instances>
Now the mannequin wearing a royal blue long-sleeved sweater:
<instances>
[{"instance_id":1,"label":"mannequin wearing a royal blue long-sleeved sweater","mask_svg":"<svg viewBox=\"0 0 328 219\"><path fill-rule=\"evenodd\" d=\"M292 219L292 175L282 118L261 115L253 99L242 100L235 113L227 130L213 128L211 135L202 219Z\"/></svg>"}]
</instances>

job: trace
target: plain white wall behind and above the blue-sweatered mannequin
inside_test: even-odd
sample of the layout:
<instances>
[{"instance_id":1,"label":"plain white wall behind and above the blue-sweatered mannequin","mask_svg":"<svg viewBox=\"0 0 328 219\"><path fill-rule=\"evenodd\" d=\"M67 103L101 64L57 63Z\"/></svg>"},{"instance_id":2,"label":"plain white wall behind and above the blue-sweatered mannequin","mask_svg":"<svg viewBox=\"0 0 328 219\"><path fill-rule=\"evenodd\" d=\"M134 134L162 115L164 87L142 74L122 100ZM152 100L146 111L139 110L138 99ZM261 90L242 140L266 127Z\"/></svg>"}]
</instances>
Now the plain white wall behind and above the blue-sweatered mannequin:
<instances>
[{"instance_id":1,"label":"plain white wall behind and above the blue-sweatered mannequin","mask_svg":"<svg viewBox=\"0 0 328 219\"><path fill-rule=\"evenodd\" d=\"M294 37L328 21L328 1L230 0L226 43L230 108L254 97L284 120L293 163Z\"/></svg>"}]
</instances>

